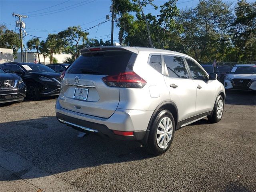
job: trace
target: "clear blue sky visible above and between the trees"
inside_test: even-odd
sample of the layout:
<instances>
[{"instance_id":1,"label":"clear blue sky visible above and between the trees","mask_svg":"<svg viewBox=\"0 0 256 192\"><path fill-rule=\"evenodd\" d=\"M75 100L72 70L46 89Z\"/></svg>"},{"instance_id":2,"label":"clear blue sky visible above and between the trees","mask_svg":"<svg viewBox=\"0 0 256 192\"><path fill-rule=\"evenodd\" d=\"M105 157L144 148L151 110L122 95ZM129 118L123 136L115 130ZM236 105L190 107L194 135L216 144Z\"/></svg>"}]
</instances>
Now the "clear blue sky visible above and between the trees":
<instances>
[{"instance_id":1,"label":"clear blue sky visible above and between the trees","mask_svg":"<svg viewBox=\"0 0 256 192\"><path fill-rule=\"evenodd\" d=\"M166 0L154 0L158 7ZM254 0L247 0L253 2ZM12 13L28 16L24 19L27 35L24 37L24 44L33 36L41 37L44 40L48 33L58 33L68 26L80 25L83 30L90 34L88 38L101 38L106 41L111 37L111 21L106 21L106 15L111 15L111 0L0 0L0 24L5 24L8 29L18 32L15 21L18 18L12 17ZM236 4L236 0L224 0L224 2ZM179 9L194 7L198 0L178 0ZM152 6L144 8L145 14L159 14L160 8L154 10ZM114 42L118 41L118 28L114 28Z\"/></svg>"}]
</instances>

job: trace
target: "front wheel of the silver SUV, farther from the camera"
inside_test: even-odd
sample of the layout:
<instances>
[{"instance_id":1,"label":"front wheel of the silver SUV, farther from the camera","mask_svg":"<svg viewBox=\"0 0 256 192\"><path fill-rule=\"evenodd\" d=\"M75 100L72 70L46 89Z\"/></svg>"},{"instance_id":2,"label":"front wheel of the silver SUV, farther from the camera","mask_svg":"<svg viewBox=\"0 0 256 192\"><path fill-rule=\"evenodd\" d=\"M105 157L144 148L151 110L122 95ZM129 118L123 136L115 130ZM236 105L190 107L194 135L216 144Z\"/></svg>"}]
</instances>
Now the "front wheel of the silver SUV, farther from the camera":
<instances>
[{"instance_id":1,"label":"front wheel of the silver SUV, farther from the camera","mask_svg":"<svg viewBox=\"0 0 256 192\"><path fill-rule=\"evenodd\" d=\"M213 123L218 123L223 116L223 110L224 110L224 99L221 95L219 95L214 104L213 114L212 116L208 116L208 120L210 120Z\"/></svg>"}]
</instances>

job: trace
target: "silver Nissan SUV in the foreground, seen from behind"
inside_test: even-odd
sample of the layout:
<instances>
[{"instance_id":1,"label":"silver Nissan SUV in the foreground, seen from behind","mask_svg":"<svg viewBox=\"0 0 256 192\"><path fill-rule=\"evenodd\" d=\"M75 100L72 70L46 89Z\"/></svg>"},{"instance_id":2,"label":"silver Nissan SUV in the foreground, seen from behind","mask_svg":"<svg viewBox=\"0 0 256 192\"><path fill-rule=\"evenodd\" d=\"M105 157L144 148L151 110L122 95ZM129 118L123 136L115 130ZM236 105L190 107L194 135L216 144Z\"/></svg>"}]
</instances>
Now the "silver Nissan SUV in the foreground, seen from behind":
<instances>
[{"instance_id":1,"label":"silver Nissan SUV in the foreground, seen from behind","mask_svg":"<svg viewBox=\"0 0 256 192\"><path fill-rule=\"evenodd\" d=\"M219 122L225 89L190 56L143 47L84 48L62 73L57 119L82 132L138 140L160 155L174 131Z\"/></svg>"}]
</instances>

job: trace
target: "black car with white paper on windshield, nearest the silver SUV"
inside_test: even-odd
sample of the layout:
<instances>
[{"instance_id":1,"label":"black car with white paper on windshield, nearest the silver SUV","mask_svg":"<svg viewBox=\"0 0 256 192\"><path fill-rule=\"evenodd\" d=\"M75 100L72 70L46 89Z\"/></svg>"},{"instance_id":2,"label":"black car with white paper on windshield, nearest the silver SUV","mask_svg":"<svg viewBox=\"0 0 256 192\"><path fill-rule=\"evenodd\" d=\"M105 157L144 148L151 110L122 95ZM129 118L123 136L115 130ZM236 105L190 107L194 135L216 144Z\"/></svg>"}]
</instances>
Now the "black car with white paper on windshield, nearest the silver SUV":
<instances>
[{"instance_id":1,"label":"black car with white paper on windshield, nearest the silver SUV","mask_svg":"<svg viewBox=\"0 0 256 192\"><path fill-rule=\"evenodd\" d=\"M0 64L0 68L20 76L27 86L27 97L32 100L60 94L60 74L43 64L10 62Z\"/></svg>"}]
</instances>

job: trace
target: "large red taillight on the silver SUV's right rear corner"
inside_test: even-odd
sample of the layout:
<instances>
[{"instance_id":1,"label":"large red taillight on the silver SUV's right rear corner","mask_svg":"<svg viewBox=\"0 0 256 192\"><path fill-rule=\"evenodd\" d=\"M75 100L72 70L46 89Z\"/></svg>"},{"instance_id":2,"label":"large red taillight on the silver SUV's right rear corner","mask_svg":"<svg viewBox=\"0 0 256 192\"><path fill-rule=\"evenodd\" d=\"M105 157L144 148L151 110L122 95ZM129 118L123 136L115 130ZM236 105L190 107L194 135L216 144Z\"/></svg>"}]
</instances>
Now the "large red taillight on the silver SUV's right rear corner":
<instances>
[{"instance_id":1,"label":"large red taillight on the silver SUV's right rear corner","mask_svg":"<svg viewBox=\"0 0 256 192\"><path fill-rule=\"evenodd\" d=\"M142 88L147 83L135 72L124 72L118 75L106 76L102 80L110 87Z\"/></svg>"}]
</instances>

